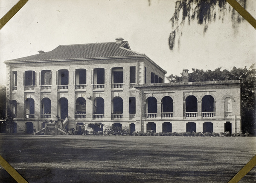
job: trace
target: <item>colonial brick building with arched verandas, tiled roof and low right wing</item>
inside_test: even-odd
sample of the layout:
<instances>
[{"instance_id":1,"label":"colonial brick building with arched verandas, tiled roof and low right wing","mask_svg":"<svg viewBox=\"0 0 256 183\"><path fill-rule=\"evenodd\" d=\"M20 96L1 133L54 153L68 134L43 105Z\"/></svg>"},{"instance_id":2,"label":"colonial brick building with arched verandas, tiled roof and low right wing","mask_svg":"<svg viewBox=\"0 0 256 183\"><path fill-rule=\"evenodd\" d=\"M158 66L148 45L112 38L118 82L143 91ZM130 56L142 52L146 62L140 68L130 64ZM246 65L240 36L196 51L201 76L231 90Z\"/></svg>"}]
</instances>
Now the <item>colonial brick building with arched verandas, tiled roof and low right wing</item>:
<instances>
[{"instance_id":1,"label":"colonial brick building with arched verandas, tiled roof and low right wing","mask_svg":"<svg viewBox=\"0 0 256 183\"><path fill-rule=\"evenodd\" d=\"M17 133L66 134L89 123L143 132L241 131L240 81L164 83L127 41L61 45L5 61Z\"/></svg>"}]
</instances>

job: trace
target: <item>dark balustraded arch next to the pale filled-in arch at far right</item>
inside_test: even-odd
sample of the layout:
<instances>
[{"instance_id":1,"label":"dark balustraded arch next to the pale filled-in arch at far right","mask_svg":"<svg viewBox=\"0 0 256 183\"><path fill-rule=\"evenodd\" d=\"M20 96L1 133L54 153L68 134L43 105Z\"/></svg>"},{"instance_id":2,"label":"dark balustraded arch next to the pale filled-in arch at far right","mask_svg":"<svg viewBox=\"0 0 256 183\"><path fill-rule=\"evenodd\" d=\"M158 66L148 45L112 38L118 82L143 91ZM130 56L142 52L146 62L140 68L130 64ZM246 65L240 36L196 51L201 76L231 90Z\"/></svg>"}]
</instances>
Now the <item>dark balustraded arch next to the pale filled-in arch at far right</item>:
<instances>
[{"instance_id":1,"label":"dark balustraded arch next to the pale filled-in arch at far right","mask_svg":"<svg viewBox=\"0 0 256 183\"><path fill-rule=\"evenodd\" d=\"M205 95L202 98L202 117L214 116L214 98L211 95Z\"/></svg>"}]
</instances>

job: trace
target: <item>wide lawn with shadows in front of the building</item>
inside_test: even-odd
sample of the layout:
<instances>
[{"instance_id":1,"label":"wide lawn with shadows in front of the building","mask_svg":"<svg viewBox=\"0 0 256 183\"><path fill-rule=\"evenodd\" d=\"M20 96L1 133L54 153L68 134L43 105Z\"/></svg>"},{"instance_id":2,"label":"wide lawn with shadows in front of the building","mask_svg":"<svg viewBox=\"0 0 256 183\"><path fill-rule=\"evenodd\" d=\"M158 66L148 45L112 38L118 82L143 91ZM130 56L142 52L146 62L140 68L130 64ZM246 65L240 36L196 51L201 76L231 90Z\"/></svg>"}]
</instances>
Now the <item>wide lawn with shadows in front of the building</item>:
<instances>
[{"instance_id":1,"label":"wide lawn with shadows in front of the building","mask_svg":"<svg viewBox=\"0 0 256 183\"><path fill-rule=\"evenodd\" d=\"M256 137L0 134L0 154L29 183L227 183ZM0 182L15 180L1 167ZM240 182L256 182L256 167Z\"/></svg>"}]
</instances>

